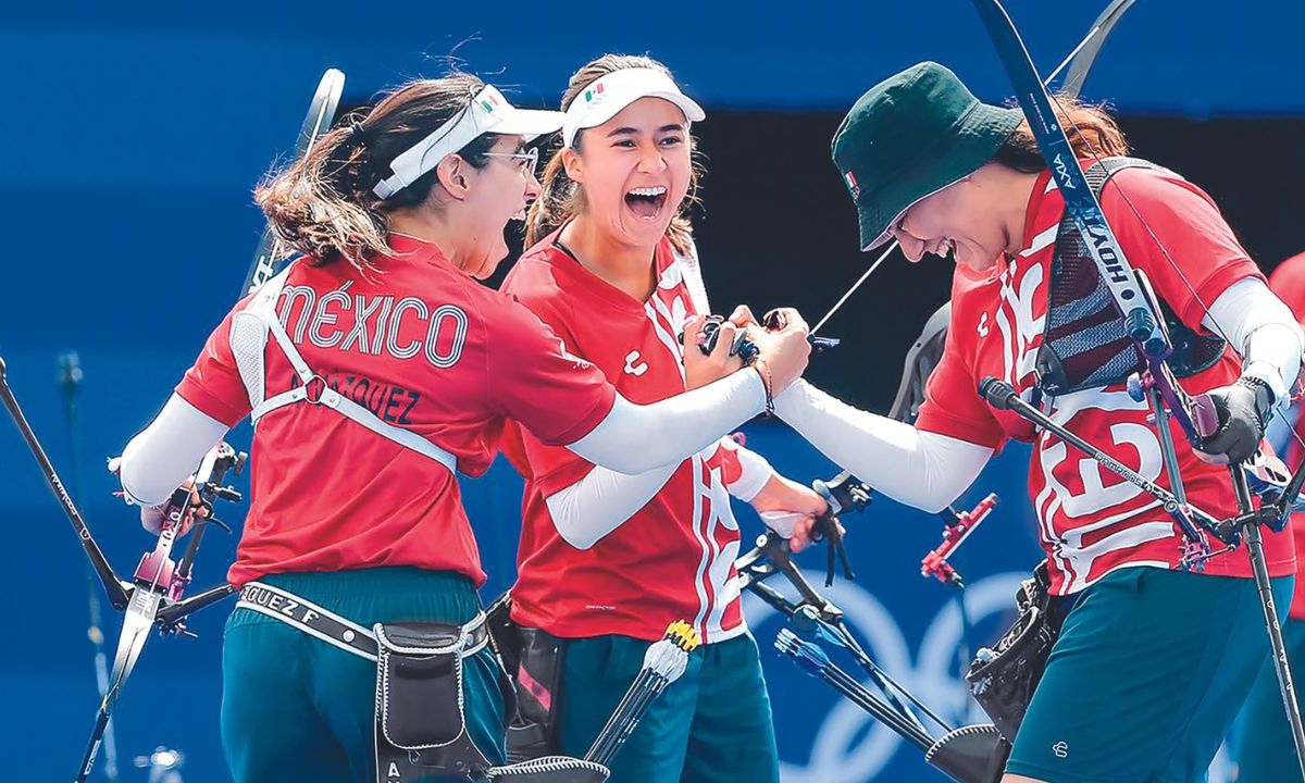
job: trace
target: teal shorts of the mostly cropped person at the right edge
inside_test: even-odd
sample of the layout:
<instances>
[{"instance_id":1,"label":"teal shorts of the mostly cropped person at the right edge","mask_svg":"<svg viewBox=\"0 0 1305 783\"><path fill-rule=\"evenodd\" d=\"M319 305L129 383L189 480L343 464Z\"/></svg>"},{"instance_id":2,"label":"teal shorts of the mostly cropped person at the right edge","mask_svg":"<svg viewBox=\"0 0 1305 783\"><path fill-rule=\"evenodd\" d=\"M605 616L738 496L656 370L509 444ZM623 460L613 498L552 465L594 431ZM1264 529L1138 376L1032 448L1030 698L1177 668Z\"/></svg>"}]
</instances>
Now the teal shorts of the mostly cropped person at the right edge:
<instances>
[{"instance_id":1,"label":"teal shorts of the mostly cropped person at the right edge","mask_svg":"<svg viewBox=\"0 0 1305 783\"><path fill-rule=\"evenodd\" d=\"M1291 619L1283 626L1287 642L1287 660L1292 664L1296 685L1296 703L1301 703L1305 688L1305 620ZM1300 776L1300 763L1292 745L1292 728L1283 709L1278 673L1272 662L1266 662L1246 697L1233 731L1233 761L1237 766L1236 783L1280 783Z\"/></svg>"}]
</instances>

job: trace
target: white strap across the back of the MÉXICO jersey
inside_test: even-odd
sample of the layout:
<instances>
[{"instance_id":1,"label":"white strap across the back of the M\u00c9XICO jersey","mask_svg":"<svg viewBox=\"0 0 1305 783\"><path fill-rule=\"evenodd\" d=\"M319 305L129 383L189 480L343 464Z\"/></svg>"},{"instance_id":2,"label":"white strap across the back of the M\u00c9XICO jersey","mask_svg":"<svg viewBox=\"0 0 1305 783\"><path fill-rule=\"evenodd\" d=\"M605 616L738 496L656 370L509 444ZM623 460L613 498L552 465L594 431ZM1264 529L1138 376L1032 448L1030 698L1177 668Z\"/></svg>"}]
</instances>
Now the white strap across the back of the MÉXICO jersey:
<instances>
[{"instance_id":1,"label":"white strap across the back of the M\u00c9XICO jersey","mask_svg":"<svg viewBox=\"0 0 1305 783\"><path fill-rule=\"evenodd\" d=\"M324 405L342 416L352 419L354 422L371 429L376 435L429 457L431 459L435 459L440 465L448 467L450 471L457 471L457 457L425 440L420 435L403 429L402 427L395 427L389 422L382 420L365 407L358 405L352 399L343 397L328 386L326 382L308 367L308 363L304 361L299 348L296 348L294 341L290 339L290 334L286 333L286 328L282 326L281 316L277 315L277 300L281 298L281 291L286 284L286 278L290 275L291 269L294 269L294 264L287 266L277 277L264 283L254 294L253 299L249 300L249 304L231 320L232 350L236 356L236 365L240 369L240 377L244 380L245 388L249 390L249 402L253 406L253 410L249 412L249 418L253 420L254 427L257 427L258 420L269 412L287 405L307 401L312 405ZM256 346L253 341L254 335L261 338ZM269 337L275 341L282 354L284 354L286 359L290 360L290 365L295 369L295 375L299 376L299 385L288 392L282 392L281 394L265 398L265 372L262 356L264 347L268 345ZM252 384L253 378L257 378L256 384Z\"/></svg>"}]
</instances>

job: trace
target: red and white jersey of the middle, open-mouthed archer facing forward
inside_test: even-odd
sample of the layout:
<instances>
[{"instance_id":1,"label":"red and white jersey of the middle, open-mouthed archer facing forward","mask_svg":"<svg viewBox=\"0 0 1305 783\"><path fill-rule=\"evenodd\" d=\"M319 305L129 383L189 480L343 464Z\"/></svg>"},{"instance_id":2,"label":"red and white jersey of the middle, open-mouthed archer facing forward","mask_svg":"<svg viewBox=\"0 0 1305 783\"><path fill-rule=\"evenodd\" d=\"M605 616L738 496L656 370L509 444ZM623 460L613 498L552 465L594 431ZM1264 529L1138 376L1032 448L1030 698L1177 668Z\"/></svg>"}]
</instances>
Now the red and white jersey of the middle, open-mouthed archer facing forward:
<instances>
[{"instance_id":1,"label":"red and white jersey of the middle, open-mouthed archer facing forward","mask_svg":"<svg viewBox=\"0 0 1305 783\"><path fill-rule=\"evenodd\" d=\"M531 248L502 290L535 311L568 350L598 365L626 399L646 405L681 394L677 335L694 305L669 241L656 248L658 284L641 303L581 266L556 238ZM559 535L545 499L594 465L510 429L504 452L526 476L514 620L569 638L651 641L681 617L707 642L745 630L733 568L739 525L726 489L740 470L731 449L711 446L685 459L647 505L578 549Z\"/></svg>"}]
</instances>

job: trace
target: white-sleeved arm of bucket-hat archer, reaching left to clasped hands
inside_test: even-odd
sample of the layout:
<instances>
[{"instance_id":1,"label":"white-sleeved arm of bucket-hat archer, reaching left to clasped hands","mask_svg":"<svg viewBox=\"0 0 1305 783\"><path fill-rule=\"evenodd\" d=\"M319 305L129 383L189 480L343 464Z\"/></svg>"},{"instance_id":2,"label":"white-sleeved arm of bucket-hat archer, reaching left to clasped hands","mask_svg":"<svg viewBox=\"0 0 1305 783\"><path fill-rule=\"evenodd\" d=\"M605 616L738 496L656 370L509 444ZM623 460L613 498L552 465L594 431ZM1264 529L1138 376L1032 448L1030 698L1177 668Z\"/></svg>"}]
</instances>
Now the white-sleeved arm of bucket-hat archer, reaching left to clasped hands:
<instances>
[{"instance_id":1,"label":"white-sleeved arm of bucket-hat archer, reaching left to clasped hands","mask_svg":"<svg viewBox=\"0 0 1305 783\"><path fill-rule=\"evenodd\" d=\"M846 405L797 381L775 398L775 412L822 454L878 492L940 512L977 478L992 449L920 432Z\"/></svg>"}]
</instances>

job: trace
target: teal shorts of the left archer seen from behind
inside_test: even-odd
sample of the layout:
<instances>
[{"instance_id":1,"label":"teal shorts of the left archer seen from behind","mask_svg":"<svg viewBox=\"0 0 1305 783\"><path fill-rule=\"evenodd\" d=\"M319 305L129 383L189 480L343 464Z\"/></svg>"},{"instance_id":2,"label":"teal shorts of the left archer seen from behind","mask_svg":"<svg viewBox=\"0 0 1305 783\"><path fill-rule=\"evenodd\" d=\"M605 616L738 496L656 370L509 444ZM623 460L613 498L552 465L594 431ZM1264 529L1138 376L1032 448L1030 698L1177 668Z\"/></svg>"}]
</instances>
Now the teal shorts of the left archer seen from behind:
<instances>
[{"instance_id":1,"label":"teal shorts of the left archer seen from behind","mask_svg":"<svg viewBox=\"0 0 1305 783\"><path fill-rule=\"evenodd\" d=\"M458 574L384 568L261 579L363 626L466 622L480 608ZM482 650L466 660L467 728L501 763L499 663ZM222 646L222 745L236 783L376 780L376 664L273 617L236 609Z\"/></svg>"}]
</instances>

